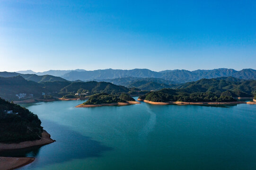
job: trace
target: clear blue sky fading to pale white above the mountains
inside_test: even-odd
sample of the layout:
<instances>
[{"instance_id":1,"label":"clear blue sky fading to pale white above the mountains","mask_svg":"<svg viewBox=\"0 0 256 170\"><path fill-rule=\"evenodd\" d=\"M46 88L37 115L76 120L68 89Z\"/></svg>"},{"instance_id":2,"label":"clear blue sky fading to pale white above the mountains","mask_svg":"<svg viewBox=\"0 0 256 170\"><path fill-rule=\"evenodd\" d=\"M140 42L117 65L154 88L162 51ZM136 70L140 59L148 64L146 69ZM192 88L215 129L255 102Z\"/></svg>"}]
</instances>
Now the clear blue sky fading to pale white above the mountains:
<instances>
[{"instance_id":1,"label":"clear blue sky fading to pale white above the mountains","mask_svg":"<svg viewBox=\"0 0 256 170\"><path fill-rule=\"evenodd\" d=\"M256 69L256 0L0 0L0 71Z\"/></svg>"}]
</instances>

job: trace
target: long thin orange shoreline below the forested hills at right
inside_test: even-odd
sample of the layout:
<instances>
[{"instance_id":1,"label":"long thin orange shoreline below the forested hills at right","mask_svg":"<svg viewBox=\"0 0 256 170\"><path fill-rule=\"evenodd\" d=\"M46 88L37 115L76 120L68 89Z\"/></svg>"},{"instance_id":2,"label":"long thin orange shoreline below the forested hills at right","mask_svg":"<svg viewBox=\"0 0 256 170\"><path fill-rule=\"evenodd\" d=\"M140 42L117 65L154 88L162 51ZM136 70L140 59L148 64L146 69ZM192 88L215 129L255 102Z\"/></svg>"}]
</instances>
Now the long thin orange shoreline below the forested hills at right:
<instances>
[{"instance_id":1,"label":"long thin orange shoreline below the forested hills at right","mask_svg":"<svg viewBox=\"0 0 256 170\"><path fill-rule=\"evenodd\" d=\"M256 104L256 102L151 102L143 100L143 102L155 105L221 105L221 104Z\"/></svg>"}]
</instances>

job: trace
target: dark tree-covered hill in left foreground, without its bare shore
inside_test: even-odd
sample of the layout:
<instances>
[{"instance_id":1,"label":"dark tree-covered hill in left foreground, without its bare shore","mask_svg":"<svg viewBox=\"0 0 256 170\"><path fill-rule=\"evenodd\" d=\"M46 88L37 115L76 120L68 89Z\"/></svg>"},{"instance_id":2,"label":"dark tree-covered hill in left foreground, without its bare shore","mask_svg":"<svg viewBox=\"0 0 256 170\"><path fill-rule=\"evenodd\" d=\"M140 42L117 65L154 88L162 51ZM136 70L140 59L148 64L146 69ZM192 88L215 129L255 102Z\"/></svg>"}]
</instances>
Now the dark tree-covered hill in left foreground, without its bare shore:
<instances>
[{"instance_id":1,"label":"dark tree-covered hill in left foreground, without its bare shore","mask_svg":"<svg viewBox=\"0 0 256 170\"><path fill-rule=\"evenodd\" d=\"M7 113L11 110L12 113ZM19 143L40 139L43 127L37 115L0 98L0 143Z\"/></svg>"}]
</instances>

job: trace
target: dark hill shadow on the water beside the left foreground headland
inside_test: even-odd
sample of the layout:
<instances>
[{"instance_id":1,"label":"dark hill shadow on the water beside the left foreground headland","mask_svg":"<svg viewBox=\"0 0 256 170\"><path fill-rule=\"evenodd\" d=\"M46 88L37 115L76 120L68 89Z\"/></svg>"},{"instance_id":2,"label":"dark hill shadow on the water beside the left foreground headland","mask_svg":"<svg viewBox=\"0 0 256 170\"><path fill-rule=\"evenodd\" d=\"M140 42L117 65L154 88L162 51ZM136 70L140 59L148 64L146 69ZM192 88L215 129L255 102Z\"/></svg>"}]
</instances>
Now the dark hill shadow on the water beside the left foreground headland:
<instances>
[{"instance_id":1,"label":"dark hill shadow on the water beside the left foreground headland","mask_svg":"<svg viewBox=\"0 0 256 170\"><path fill-rule=\"evenodd\" d=\"M69 127L42 120L44 127L56 142L42 147L32 147L13 151L0 152L0 156L35 157L30 167L42 167L48 164L61 163L72 159L99 157L104 151L113 148L105 146L88 136L83 136ZM44 148L44 149L42 149ZM26 167L24 167L26 169Z\"/></svg>"}]
</instances>

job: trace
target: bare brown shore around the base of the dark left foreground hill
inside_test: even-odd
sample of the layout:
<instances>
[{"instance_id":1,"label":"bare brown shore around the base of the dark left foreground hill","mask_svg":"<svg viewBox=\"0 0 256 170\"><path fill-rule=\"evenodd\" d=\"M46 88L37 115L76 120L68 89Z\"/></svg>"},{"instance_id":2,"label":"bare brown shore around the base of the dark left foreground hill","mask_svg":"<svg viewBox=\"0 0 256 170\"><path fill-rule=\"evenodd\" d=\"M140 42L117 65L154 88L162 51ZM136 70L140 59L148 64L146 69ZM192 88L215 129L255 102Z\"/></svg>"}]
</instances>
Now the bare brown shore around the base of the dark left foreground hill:
<instances>
[{"instance_id":1,"label":"bare brown shore around the base of the dark left foreground hill","mask_svg":"<svg viewBox=\"0 0 256 170\"><path fill-rule=\"evenodd\" d=\"M4 144L4 143L0 143L0 151L3 150L13 150L13 149L23 149L23 148L28 148L28 147L32 147L32 146L43 146L46 144L51 144L55 142L55 140L53 140L51 138L51 135L48 134L45 130L42 132L42 137L39 140L35 140L35 141L25 141L25 142L21 142L18 144Z\"/></svg>"}]
</instances>

